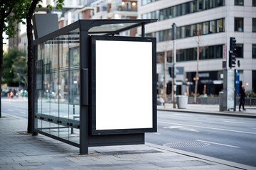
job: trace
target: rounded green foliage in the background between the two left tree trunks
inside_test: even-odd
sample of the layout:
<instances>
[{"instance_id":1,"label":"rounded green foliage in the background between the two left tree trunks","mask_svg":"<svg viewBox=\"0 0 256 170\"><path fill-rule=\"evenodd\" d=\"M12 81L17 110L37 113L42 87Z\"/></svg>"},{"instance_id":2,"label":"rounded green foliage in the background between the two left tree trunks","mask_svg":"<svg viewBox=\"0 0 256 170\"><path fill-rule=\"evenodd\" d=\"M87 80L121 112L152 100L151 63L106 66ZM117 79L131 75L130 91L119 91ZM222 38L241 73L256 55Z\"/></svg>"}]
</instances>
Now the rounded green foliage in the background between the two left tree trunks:
<instances>
[{"instance_id":1,"label":"rounded green foliage in the background between the two left tree trunks","mask_svg":"<svg viewBox=\"0 0 256 170\"><path fill-rule=\"evenodd\" d=\"M27 84L27 57L23 52L11 48L9 52L4 53L3 68L3 84L10 86L11 84L18 84L18 81ZM22 70L19 68L22 68Z\"/></svg>"}]
</instances>

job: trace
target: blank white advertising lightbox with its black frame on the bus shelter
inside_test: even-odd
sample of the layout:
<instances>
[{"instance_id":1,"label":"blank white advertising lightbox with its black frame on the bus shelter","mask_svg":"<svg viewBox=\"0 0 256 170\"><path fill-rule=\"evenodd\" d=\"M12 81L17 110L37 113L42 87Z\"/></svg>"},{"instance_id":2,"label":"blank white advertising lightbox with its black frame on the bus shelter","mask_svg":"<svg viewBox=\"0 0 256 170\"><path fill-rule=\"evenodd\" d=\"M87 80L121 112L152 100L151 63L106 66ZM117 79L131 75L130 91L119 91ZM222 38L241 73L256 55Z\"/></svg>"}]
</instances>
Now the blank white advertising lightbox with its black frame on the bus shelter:
<instances>
[{"instance_id":1,"label":"blank white advertising lightbox with its black frame on the bus shelter","mask_svg":"<svg viewBox=\"0 0 256 170\"><path fill-rule=\"evenodd\" d=\"M156 132L156 39L91 36L92 135Z\"/></svg>"}]
</instances>

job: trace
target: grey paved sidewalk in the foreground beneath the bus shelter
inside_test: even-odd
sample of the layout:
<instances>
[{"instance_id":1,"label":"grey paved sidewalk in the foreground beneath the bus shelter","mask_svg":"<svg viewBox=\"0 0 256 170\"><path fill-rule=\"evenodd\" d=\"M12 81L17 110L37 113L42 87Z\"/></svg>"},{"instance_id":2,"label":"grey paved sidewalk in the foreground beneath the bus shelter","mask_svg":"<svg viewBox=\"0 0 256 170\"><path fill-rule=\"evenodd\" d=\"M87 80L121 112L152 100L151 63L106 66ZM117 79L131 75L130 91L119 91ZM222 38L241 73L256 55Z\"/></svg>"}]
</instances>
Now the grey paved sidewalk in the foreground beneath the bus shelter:
<instances>
[{"instance_id":1,"label":"grey paved sidewalk in the foreground beneath the bus shelter","mask_svg":"<svg viewBox=\"0 0 256 170\"><path fill-rule=\"evenodd\" d=\"M178 149L152 145L90 147L79 149L43 135L26 134L27 120L2 113L0 118L0 169L256 169Z\"/></svg>"}]
</instances>

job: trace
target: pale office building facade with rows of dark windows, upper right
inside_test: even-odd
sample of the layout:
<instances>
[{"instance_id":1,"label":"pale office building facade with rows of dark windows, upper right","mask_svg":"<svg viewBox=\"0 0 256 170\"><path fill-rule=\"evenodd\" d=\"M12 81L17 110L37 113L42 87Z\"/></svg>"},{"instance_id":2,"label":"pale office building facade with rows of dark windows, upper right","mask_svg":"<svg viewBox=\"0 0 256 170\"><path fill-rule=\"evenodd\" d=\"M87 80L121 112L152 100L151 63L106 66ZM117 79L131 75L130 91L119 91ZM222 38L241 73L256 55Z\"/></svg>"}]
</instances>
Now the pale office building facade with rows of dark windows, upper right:
<instances>
[{"instance_id":1,"label":"pale office building facade with rows of dark windows, upper right","mask_svg":"<svg viewBox=\"0 0 256 170\"><path fill-rule=\"evenodd\" d=\"M230 37L236 39L240 84L256 92L256 1L243 0L142 0L138 18L158 18L146 27L146 35L157 38L159 89L171 84L174 43L172 25L176 23L177 93L193 94L198 60L198 93L218 95L223 89ZM164 67L166 56L166 67ZM164 74L164 69L167 74ZM164 81L166 78L167 81ZM169 83L168 83L169 82ZM163 91L159 91L159 94ZM167 86L167 94L170 93Z\"/></svg>"}]
</instances>

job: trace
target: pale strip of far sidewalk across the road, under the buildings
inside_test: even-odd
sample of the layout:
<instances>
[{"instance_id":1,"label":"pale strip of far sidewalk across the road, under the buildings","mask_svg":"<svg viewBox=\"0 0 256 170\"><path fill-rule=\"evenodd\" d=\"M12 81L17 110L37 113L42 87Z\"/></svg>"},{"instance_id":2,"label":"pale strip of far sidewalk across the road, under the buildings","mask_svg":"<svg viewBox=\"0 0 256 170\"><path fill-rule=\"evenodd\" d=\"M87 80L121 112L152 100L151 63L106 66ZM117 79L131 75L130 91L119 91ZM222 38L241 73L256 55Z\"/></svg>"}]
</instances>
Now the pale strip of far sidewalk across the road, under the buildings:
<instances>
[{"instance_id":1,"label":"pale strip of far sidewalk across the road, under the buildings","mask_svg":"<svg viewBox=\"0 0 256 170\"><path fill-rule=\"evenodd\" d=\"M256 106L245 106L246 111L238 111L238 106L236 111L220 111L220 106L218 105L203 105L203 104L188 104L186 108L174 108L172 103L166 103L165 106L157 106L158 111L178 111L178 112L188 112L188 113L208 113L215 115L235 115L243 117L256 118Z\"/></svg>"}]
</instances>

